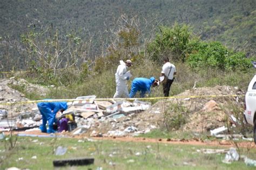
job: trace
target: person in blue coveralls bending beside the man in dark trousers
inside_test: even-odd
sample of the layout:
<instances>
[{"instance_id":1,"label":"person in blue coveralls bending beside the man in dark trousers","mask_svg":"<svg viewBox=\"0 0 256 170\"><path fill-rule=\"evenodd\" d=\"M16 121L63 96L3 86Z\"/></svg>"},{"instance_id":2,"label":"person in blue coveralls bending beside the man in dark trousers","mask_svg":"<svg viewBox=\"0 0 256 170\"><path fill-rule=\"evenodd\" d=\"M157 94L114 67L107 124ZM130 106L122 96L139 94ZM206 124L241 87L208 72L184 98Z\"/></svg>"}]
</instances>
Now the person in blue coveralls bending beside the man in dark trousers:
<instances>
[{"instance_id":1,"label":"person in blue coveralls bending beside the man in dark trousers","mask_svg":"<svg viewBox=\"0 0 256 170\"><path fill-rule=\"evenodd\" d=\"M134 97L137 93L137 91L140 91L140 97L145 97L146 93L150 94L150 88L155 87L158 85L158 81L154 79L154 77L151 77L150 79L146 79L143 77L138 77L133 79L132 86L131 86L131 92L130 92L130 98Z\"/></svg>"}]
</instances>

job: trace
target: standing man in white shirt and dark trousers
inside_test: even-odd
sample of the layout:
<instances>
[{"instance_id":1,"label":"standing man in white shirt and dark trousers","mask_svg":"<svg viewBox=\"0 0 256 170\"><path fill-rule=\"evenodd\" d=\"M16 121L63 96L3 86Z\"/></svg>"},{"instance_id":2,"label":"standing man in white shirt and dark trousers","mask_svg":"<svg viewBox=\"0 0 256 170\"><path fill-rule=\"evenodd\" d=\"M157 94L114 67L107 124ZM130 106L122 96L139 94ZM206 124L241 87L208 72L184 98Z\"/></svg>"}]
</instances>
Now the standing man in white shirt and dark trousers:
<instances>
[{"instance_id":1,"label":"standing man in white shirt and dark trousers","mask_svg":"<svg viewBox=\"0 0 256 170\"><path fill-rule=\"evenodd\" d=\"M169 62L169 58L164 58L164 66L161 71L161 76L166 76L167 81L163 83L164 96L169 97L169 91L174 80L174 75L176 75L176 67Z\"/></svg>"}]
</instances>

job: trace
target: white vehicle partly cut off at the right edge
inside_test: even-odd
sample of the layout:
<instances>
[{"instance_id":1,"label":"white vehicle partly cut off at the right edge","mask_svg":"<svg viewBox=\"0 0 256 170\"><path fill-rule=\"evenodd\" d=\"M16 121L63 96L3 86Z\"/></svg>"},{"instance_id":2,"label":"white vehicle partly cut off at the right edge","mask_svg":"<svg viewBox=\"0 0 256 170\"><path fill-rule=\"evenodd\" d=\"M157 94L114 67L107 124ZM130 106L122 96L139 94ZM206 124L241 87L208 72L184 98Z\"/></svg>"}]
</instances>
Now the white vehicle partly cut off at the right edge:
<instances>
[{"instance_id":1,"label":"white vehicle partly cut off at the right edge","mask_svg":"<svg viewBox=\"0 0 256 170\"><path fill-rule=\"evenodd\" d=\"M251 80L245 95L245 121L254 126L253 137L256 144L256 75Z\"/></svg>"}]
</instances>

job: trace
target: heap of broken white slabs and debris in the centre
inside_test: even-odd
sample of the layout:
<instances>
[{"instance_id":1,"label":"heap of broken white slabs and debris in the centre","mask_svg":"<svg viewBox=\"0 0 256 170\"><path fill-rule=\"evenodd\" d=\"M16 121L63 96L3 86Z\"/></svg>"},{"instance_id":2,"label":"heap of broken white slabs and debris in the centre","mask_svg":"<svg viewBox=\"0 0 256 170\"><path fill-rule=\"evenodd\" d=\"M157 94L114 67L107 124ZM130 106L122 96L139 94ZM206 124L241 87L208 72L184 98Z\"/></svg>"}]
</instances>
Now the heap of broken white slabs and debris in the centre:
<instances>
[{"instance_id":1,"label":"heap of broken white slabs and debris in the centre","mask_svg":"<svg viewBox=\"0 0 256 170\"><path fill-rule=\"evenodd\" d=\"M85 99L85 97L90 97ZM78 128L72 134L87 134L93 137L127 136L150 132L156 126L136 119L139 112L150 108L151 103L142 101L97 101L96 96L84 96L81 101L63 114L75 113ZM147 128L140 128L143 123Z\"/></svg>"}]
</instances>

